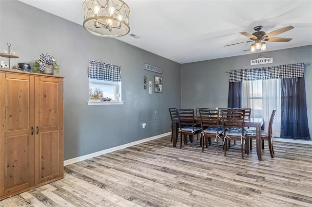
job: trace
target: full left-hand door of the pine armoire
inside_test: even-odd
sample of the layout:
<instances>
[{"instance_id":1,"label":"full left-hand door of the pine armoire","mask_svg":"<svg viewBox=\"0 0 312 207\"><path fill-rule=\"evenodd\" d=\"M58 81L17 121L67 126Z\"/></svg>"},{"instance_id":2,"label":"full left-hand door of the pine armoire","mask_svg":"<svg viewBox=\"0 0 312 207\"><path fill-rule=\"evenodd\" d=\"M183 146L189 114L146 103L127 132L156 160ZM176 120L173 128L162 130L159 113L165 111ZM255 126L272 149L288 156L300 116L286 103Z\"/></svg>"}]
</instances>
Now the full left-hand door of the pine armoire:
<instances>
[{"instance_id":1,"label":"full left-hand door of the pine armoire","mask_svg":"<svg viewBox=\"0 0 312 207\"><path fill-rule=\"evenodd\" d=\"M34 185L34 80L0 73L0 196Z\"/></svg>"}]
</instances>

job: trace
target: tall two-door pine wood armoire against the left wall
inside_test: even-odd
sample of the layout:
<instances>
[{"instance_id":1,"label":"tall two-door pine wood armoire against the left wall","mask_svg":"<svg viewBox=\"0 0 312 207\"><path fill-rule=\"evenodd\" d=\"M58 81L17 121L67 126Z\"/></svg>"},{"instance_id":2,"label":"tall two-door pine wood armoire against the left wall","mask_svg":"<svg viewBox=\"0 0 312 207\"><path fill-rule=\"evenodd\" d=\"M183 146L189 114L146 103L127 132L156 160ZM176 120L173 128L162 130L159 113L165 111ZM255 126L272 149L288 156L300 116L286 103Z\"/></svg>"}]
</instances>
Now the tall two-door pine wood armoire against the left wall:
<instances>
[{"instance_id":1,"label":"tall two-door pine wood armoire against the left wall","mask_svg":"<svg viewBox=\"0 0 312 207\"><path fill-rule=\"evenodd\" d=\"M0 69L0 200L63 177L63 77Z\"/></svg>"}]
</instances>

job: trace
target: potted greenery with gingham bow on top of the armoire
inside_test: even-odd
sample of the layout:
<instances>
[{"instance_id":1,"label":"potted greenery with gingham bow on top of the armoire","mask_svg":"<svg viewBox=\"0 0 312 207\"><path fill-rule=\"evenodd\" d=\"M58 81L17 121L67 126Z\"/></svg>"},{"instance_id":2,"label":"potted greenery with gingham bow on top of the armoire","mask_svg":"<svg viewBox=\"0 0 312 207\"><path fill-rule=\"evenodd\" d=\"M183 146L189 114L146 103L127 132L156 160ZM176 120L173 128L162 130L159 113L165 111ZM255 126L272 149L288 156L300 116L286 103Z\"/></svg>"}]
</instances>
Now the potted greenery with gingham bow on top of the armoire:
<instances>
[{"instance_id":1,"label":"potted greenery with gingham bow on top of the armoire","mask_svg":"<svg viewBox=\"0 0 312 207\"><path fill-rule=\"evenodd\" d=\"M39 59L35 60L33 64L33 71L38 73L42 72L44 74L53 75L54 70L56 73L59 73L59 69L60 66L58 65L58 62L49 53L41 53Z\"/></svg>"}]
</instances>

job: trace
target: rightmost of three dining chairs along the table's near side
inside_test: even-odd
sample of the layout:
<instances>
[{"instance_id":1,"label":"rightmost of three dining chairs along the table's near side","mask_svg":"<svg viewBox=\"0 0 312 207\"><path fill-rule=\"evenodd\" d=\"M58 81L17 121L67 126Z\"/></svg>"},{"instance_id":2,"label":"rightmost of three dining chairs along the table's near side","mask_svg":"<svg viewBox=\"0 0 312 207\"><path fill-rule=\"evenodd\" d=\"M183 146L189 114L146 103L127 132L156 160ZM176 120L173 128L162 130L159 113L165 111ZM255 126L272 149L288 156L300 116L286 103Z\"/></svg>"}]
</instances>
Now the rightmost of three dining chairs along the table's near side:
<instances>
[{"instance_id":1,"label":"rightmost of three dining chairs along the table's near side","mask_svg":"<svg viewBox=\"0 0 312 207\"><path fill-rule=\"evenodd\" d=\"M224 156L227 151L227 140L240 140L241 155L244 158L245 150L245 111L243 110L222 110L223 123L223 148Z\"/></svg>"}]
</instances>

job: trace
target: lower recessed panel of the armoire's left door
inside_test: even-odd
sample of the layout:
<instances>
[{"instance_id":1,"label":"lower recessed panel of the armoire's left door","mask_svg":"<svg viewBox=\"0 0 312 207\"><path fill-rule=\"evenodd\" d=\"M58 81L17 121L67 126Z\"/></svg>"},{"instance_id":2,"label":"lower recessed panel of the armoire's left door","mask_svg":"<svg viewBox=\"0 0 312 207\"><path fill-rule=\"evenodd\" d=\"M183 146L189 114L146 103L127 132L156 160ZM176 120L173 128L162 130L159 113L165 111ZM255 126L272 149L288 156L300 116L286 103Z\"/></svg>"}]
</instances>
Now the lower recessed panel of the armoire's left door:
<instances>
[{"instance_id":1,"label":"lower recessed panel of the armoire's left door","mask_svg":"<svg viewBox=\"0 0 312 207\"><path fill-rule=\"evenodd\" d=\"M28 134L5 138L6 193L13 192L14 188L21 185L29 186L29 154L33 152L29 152L28 146Z\"/></svg>"}]
</instances>

